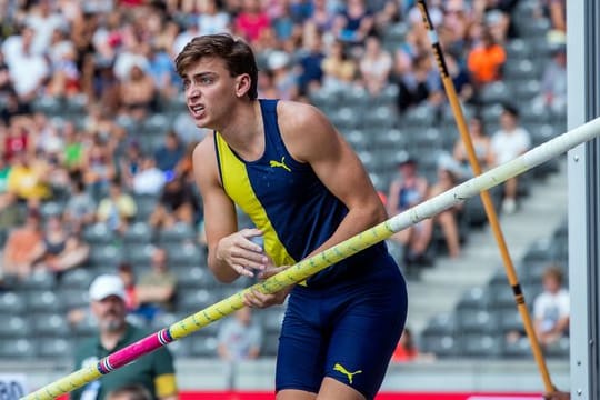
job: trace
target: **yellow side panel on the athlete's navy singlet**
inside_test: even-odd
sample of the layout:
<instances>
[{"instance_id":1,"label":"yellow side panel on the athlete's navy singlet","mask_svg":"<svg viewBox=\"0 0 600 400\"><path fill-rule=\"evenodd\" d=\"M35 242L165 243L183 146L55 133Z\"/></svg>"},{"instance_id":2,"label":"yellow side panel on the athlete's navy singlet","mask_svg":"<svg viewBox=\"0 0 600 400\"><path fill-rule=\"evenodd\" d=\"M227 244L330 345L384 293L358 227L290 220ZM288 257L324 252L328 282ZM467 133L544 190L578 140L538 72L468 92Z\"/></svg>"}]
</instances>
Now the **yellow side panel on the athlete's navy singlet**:
<instances>
[{"instance_id":1,"label":"yellow side panel on the athlete's navy singlet","mask_svg":"<svg viewBox=\"0 0 600 400\"><path fill-rule=\"evenodd\" d=\"M221 181L226 193L250 217L264 234L264 251L276 266L293 266L297 261L288 253L274 230L267 211L257 198L246 164L233 153L229 144L217 132L217 151Z\"/></svg>"}]
</instances>

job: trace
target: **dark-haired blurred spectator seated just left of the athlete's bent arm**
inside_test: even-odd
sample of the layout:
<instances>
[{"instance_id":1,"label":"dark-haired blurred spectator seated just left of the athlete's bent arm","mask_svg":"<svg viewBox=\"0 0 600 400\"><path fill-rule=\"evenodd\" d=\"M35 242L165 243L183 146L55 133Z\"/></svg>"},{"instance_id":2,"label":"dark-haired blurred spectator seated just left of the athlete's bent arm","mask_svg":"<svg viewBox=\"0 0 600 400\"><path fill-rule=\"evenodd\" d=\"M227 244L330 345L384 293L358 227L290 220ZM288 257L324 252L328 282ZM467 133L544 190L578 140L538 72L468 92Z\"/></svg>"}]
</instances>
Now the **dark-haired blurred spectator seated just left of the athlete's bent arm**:
<instances>
[{"instance_id":1,"label":"dark-haired blurred spectator seated just left of the athlete's bent arm","mask_svg":"<svg viewBox=\"0 0 600 400\"><path fill-rule=\"evenodd\" d=\"M184 178L176 177L164 184L149 223L154 229L170 228L177 222L192 223L194 212L196 202L190 186Z\"/></svg>"}]
</instances>

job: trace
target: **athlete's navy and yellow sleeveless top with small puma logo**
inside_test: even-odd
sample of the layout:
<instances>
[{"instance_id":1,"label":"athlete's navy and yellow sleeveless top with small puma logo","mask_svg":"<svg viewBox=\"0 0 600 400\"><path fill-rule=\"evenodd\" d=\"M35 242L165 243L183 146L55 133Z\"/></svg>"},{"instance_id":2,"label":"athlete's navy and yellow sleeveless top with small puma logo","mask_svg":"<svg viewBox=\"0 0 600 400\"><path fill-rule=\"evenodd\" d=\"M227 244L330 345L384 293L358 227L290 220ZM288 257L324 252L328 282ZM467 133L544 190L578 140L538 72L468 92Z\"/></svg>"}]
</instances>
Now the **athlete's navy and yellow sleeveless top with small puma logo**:
<instances>
[{"instance_id":1,"label":"athlete's navy and yellow sleeveless top with small puma logo","mask_svg":"<svg viewBox=\"0 0 600 400\"><path fill-rule=\"evenodd\" d=\"M264 151L260 159L243 160L214 132L221 184L263 231L264 251L274 264L292 266L333 234L348 208L308 163L294 160L286 149L278 126L277 100L259 101L264 126ZM387 247L380 242L318 272L306 284L321 287L361 278L373 268L370 264L378 264L386 257L389 258Z\"/></svg>"}]
</instances>

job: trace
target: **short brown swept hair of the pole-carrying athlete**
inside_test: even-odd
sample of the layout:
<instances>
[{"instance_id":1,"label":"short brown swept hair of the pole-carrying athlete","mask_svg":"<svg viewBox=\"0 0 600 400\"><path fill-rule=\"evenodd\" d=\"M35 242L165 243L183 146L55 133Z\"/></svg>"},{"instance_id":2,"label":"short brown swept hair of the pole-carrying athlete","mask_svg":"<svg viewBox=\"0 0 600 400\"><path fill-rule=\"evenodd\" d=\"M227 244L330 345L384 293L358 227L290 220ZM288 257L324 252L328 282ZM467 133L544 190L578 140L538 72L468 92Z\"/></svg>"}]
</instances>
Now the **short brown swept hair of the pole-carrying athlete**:
<instances>
[{"instance_id":1,"label":"short brown swept hair of the pole-carrying athlete","mask_svg":"<svg viewBox=\"0 0 600 400\"><path fill-rule=\"evenodd\" d=\"M176 58L176 69L180 77L191 64L204 57L214 57L224 61L231 77L243 73L250 76L250 100L258 98L258 67L254 53L248 43L241 39L234 39L229 33L206 34L193 38Z\"/></svg>"}]
</instances>

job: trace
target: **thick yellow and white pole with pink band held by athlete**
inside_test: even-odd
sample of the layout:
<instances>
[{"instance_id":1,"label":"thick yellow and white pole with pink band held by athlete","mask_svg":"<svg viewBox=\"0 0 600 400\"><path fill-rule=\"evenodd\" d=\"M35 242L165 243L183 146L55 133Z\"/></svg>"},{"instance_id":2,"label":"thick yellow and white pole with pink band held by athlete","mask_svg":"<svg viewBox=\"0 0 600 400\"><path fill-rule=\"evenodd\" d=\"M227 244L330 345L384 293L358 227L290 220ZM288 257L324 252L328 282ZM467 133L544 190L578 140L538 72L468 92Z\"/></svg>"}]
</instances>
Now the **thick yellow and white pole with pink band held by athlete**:
<instances>
[{"instance_id":1,"label":"thick yellow and white pole with pink band held by athlete","mask_svg":"<svg viewBox=\"0 0 600 400\"><path fill-rule=\"evenodd\" d=\"M220 320L233 311L239 310L243 307L243 297L249 290L257 289L262 293L273 293L290 284L298 283L347 257L388 239L402 229L427 218L431 218L437 213L478 194L482 190L493 188L506 180L523 173L524 171L562 154L578 144L597 138L598 136L600 136L600 118L589 121L581 127L572 129L567 133L540 144L512 161L489 170L479 177L472 178L464 183L394 216L328 250L302 260L262 282L256 283L216 304L198 311L197 313L171 324L169 328L152 333L149 337L103 358L94 366L80 369L61 378L58 381L26 396L23 399L50 400L78 389L161 346L184 338L211 322Z\"/></svg>"}]
</instances>

